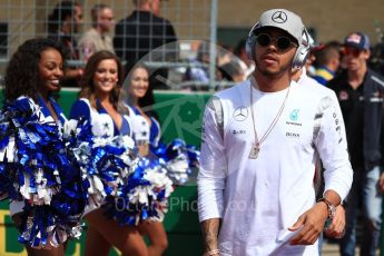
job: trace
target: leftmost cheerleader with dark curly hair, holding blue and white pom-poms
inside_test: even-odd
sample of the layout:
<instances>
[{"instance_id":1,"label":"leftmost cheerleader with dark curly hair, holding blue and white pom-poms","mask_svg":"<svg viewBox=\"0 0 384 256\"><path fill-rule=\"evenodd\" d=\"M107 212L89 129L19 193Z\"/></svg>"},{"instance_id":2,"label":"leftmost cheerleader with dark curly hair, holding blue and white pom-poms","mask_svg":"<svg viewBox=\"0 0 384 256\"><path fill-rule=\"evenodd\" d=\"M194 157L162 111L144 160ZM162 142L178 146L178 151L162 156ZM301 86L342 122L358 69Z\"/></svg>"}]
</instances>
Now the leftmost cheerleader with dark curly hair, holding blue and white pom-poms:
<instances>
[{"instance_id":1,"label":"leftmost cheerleader with dark curly hair, holding blue and white pom-poms","mask_svg":"<svg viewBox=\"0 0 384 256\"><path fill-rule=\"evenodd\" d=\"M63 219L62 216L57 215L58 211L55 214L55 210L57 210L55 207L57 206L56 203L60 200L60 193L63 189L68 189L66 187L66 180L69 180L68 177L79 179L79 176L77 177L76 174L70 173L71 169L67 169L69 166L62 167L62 165L58 165L57 158L61 156L60 159L63 160L66 157L63 147L61 151L58 150L57 154L51 155L53 147L49 146L50 141L55 140L59 142L61 138L60 132L46 134L48 137L40 137L39 140L36 139L39 138L41 131L47 131L47 127L49 127L48 129L59 131L67 120L61 108L55 100L55 96L60 90L63 67L63 51L58 42L50 39L30 39L17 49L8 63L4 76L3 111L11 109L9 110L11 115L12 108L8 108L9 106L23 106L22 116L30 120L30 122L24 124L22 119L18 119L20 118L20 114L13 114L17 115L13 119L18 119L20 125L12 135L12 140L16 144L13 142L11 145L9 142L6 147L6 154L3 154L3 148L0 150L2 158L0 161L2 164L7 161L13 163L14 165L22 165L21 160L18 160L20 157L23 160L27 158L35 159L28 164L28 167L23 166L19 168L17 176L14 176L19 179L20 175L23 176L23 179L13 180L13 183L19 183L20 187L18 189L22 197L19 197L20 199L13 199L10 196L12 199L10 203L10 215L16 226L20 229L19 242L26 245L28 255L65 255L63 243L66 243L67 237L73 238L71 237L73 234L67 233L68 229L66 232L59 230L59 221ZM38 131L30 129L31 124L37 124L36 128ZM32 151L26 149L26 140L29 146L31 144L35 145ZM42 141L47 144L42 145ZM8 150L7 152L7 149L10 149L10 147L13 147L13 150ZM38 151L36 152L36 150ZM39 157L36 157L37 154ZM50 163L51 166L47 166L47 163ZM51 173L52 169L50 168L52 166L55 166L53 173ZM30 173L31 169L33 173ZM52 176L57 178L52 179ZM37 180L39 177L41 177L41 183ZM58 181L58 179L61 179L61 181ZM77 185L79 184L77 181L70 180L73 189L78 188ZM26 186L28 187L23 189ZM55 187L58 190L55 190ZM36 190L43 193L46 196L41 198L40 196L42 194L36 195L37 193L33 193ZM69 201L71 201L69 196L67 196L66 200L67 203L65 201L62 207L75 206L69 205ZM81 201L79 200L78 206L80 207L72 211L69 208L66 211L68 215L73 214L73 216L68 216L73 217L73 220L78 217L78 221L75 220L72 223L73 226L67 226L69 232L76 225L80 225L79 221L85 203L81 208ZM43 215L39 215L38 213L43 213ZM30 223L30 219L33 219L32 223ZM37 223L39 223L38 230L36 230L35 226ZM76 233L75 229L72 232ZM80 235L79 233L80 229L76 234Z\"/></svg>"}]
</instances>

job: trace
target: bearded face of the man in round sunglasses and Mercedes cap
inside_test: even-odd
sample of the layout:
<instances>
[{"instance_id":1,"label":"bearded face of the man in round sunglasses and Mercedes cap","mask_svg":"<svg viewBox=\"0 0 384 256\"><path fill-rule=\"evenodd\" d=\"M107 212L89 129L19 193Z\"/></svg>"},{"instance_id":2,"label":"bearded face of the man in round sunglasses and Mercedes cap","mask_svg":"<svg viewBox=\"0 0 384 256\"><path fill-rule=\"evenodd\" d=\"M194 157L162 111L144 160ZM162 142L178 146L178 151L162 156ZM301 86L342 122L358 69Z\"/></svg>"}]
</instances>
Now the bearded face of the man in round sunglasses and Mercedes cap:
<instances>
[{"instance_id":1,"label":"bearded face of the man in round sunglasses and Mercedes cap","mask_svg":"<svg viewBox=\"0 0 384 256\"><path fill-rule=\"evenodd\" d=\"M280 29L267 28L263 31L270 37L270 43L267 46L255 46L255 62L256 69L264 76L278 76L283 72L291 72L292 61L295 56L297 47L294 39L291 39L293 43L282 50L278 48L278 39L282 37L291 38L289 35Z\"/></svg>"}]
</instances>

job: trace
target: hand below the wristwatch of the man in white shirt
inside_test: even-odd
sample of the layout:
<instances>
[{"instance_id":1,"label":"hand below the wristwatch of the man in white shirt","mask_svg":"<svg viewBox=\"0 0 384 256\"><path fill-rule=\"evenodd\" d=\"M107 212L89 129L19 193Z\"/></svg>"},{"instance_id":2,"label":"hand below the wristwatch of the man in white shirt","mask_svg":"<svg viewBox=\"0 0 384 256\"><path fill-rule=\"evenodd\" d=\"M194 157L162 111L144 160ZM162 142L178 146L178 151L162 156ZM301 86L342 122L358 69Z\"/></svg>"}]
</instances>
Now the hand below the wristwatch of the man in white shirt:
<instances>
[{"instance_id":1,"label":"hand below the wristwatch of the man in white shirt","mask_svg":"<svg viewBox=\"0 0 384 256\"><path fill-rule=\"evenodd\" d=\"M328 207L319 201L305 211L297 221L288 228L291 232L301 229L292 239L291 245L313 245L323 232L328 217Z\"/></svg>"}]
</instances>

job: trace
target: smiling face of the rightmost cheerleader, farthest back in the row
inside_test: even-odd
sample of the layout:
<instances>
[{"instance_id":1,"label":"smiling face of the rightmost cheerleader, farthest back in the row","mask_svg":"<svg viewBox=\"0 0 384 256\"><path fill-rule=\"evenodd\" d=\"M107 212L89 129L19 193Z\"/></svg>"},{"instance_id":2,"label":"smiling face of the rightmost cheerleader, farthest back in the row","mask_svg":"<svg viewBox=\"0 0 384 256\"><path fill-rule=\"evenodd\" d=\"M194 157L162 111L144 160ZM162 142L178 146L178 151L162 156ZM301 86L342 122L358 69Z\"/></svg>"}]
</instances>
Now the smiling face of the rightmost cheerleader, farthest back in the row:
<instances>
[{"instance_id":1,"label":"smiling face of the rightmost cheerleader, farthest back in the row","mask_svg":"<svg viewBox=\"0 0 384 256\"><path fill-rule=\"evenodd\" d=\"M135 99L142 98L148 90L148 71L145 68L136 68L131 75L130 85L128 89L129 95Z\"/></svg>"}]
</instances>

